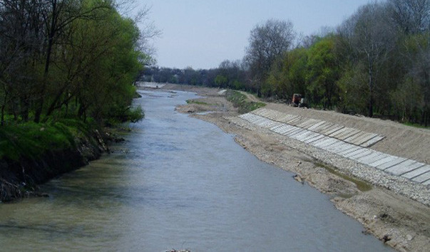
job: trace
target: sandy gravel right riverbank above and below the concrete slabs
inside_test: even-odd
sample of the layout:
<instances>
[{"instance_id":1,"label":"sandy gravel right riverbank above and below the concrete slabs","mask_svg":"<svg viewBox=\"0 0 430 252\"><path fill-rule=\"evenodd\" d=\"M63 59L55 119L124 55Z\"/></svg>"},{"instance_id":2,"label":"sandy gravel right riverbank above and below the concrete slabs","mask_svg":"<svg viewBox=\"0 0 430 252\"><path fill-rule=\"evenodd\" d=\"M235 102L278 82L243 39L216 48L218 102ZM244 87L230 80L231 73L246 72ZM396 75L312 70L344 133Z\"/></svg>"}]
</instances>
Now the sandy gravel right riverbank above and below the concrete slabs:
<instances>
[{"instance_id":1,"label":"sandy gravel right riverbank above and below the concrete slabs","mask_svg":"<svg viewBox=\"0 0 430 252\"><path fill-rule=\"evenodd\" d=\"M237 117L239 115L237 108L224 96L219 95L218 89L183 85L165 85L163 88L186 90L205 96L198 99L198 103L190 102L188 105L178 106L177 110L213 122L225 132L234 134L238 144L262 161L294 172L310 186L331 195L337 209L363 224L364 234L372 233L398 251L429 250L428 189L401 184L403 182L395 179L388 180L391 184L379 184L376 179L369 177L369 174L357 177L355 173L348 172L349 168L360 172L367 168L240 120ZM309 118L324 118L337 124L382 134L387 140L379 142L372 148L427 162L428 148L423 149L429 142L426 130L406 127L395 122L327 111L303 110L275 103L268 103L267 107L292 114L305 113ZM399 141L406 135L407 141L401 142L406 147L402 148ZM416 144L412 148L413 142ZM409 145L411 148L408 148Z\"/></svg>"}]
</instances>

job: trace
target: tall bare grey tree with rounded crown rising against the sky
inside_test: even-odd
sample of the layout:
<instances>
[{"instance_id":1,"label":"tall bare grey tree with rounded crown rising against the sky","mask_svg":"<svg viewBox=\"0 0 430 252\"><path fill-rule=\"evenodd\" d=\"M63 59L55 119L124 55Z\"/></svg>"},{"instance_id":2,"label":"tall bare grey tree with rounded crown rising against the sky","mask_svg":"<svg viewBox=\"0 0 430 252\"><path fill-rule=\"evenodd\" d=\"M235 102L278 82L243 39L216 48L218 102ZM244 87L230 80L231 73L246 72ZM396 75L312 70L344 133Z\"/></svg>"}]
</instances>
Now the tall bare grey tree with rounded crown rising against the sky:
<instances>
[{"instance_id":1,"label":"tall bare grey tree with rounded crown rising against the sky","mask_svg":"<svg viewBox=\"0 0 430 252\"><path fill-rule=\"evenodd\" d=\"M251 30L245 61L249 65L255 91L259 94L275 59L291 48L294 39L291 21L270 19Z\"/></svg>"}]
</instances>

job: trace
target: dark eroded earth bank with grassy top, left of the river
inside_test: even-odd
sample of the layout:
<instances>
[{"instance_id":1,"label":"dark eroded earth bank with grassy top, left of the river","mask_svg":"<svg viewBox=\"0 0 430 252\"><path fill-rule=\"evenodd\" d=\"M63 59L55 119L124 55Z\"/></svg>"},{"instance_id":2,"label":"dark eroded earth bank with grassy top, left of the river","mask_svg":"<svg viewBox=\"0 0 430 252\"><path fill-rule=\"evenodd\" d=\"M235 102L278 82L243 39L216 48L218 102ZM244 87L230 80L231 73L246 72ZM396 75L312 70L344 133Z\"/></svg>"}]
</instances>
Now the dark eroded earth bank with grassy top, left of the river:
<instances>
[{"instance_id":1,"label":"dark eroded earth bank with grassy top, left of the river","mask_svg":"<svg viewBox=\"0 0 430 252\"><path fill-rule=\"evenodd\" d=\"M104 131L104 130L103 130ZM0 201L47 196L39 184L98 159L115 140L78 120L1 127Z\"/></svg>"}]
</instances>

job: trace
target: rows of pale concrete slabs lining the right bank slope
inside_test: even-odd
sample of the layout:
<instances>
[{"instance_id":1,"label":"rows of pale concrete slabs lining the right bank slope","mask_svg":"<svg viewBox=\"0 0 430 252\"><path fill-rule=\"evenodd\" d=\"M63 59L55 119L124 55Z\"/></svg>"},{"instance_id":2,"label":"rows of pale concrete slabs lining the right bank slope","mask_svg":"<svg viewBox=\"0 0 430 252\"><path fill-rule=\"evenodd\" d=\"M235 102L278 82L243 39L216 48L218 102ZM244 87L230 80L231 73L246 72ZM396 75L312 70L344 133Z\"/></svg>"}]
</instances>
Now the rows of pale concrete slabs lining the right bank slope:
<instances>
[{"instance_id":1,"label":"rows of pale concrete slabs lining the right bank slope","mask_svg":"<svg viewBox=\"0 0 430 252\"><path fill-rule=\"evenodd\" d=\"M240 115L240 118L280 135L430 187L429 164L368 148L383 140L384 136L266 108Z\"/></svg>"}]
</instances>

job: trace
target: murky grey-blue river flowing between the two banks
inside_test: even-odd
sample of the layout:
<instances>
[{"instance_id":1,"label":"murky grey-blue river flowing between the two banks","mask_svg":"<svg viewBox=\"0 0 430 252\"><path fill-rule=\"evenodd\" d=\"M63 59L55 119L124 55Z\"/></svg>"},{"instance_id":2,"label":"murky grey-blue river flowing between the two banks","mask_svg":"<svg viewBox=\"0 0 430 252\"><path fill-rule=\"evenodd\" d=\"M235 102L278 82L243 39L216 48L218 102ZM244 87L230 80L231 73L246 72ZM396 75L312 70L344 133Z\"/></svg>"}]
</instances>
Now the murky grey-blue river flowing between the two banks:
<instances>
[{"instance_id":1,"label":"murky grey-blue river flowing between the two banks","mask_svg":"<svg viewBox=\"0 0 430 252\"><path fill-rule=\"evenodd\" d=\"M175 112L193 93L140 91L126 142L0 204L0 251L391 251L329 196Z\"/></svg>"}]
</instances>

